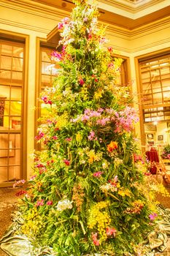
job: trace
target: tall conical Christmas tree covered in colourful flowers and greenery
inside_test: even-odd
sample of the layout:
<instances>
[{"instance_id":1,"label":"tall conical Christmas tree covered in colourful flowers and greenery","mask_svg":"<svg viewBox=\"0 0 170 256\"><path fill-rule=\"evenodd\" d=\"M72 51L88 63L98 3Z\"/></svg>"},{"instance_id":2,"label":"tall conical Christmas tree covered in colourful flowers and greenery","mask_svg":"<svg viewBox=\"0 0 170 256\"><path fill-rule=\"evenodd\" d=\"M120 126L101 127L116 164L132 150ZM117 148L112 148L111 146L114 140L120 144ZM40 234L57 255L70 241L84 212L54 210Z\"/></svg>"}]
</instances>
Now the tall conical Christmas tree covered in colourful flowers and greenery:
<instances>
[{"instance_id":1,"label":"tall conical Christmas tree covered in colourful flowers and greenery","mask_svg":"<svg viewBox=\"0 0 170 256\"><path fill-rule=\"evenodd\" d=\"M104 48L98 10L74 0L58 24L60 66L42 102L50 106L36 140L34 176L20 206L22 232L57 255L137 255L155 214L125 89L116 86L120 59Z\"/></svg>"}]
</instances>

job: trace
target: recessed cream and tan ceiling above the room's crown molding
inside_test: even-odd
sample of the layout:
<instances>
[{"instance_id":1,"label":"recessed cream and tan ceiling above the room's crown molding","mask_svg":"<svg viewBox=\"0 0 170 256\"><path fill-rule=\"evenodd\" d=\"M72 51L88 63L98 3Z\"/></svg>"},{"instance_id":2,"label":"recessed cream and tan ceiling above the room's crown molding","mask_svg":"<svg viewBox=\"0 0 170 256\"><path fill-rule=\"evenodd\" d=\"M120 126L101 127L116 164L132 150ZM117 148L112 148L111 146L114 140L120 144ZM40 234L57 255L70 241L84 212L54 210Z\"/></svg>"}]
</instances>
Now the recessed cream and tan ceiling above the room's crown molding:
<instances>
[{"instance_id":1,"label":"recessed cream and tan ceiling above the room's crown molding","mask_svg":"<svg viewBox=\"0 0 170 256\"><path fill-rule=\"evenodd\" d=\"M71 11L72 0L32 0L58 9ZM92 0L89 0L92 1ZM124 29L136 29L144 24L170 15L170 0L98 0L99 20L120 26Z\"/></svg>"}]
</instances>

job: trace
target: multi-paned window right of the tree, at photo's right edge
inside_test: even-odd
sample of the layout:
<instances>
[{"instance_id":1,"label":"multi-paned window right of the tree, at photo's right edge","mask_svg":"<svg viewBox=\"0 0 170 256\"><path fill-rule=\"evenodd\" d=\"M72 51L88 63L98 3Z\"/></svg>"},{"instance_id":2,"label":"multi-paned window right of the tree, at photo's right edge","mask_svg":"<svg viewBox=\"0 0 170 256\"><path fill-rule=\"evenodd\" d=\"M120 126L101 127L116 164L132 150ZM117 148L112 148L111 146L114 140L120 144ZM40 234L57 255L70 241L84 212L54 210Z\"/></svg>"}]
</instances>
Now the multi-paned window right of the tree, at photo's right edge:
<instances>
[{"instance_id":1,"label":"multi-paned window right of the tree, at photo's right edge","mask_svg":"<svg viewBox=\"0 0 170 256\"><path fill-rule=\"evenodd\" d=\"M139 61L144 122L170 119L170 55Z\"/></svg>"}]
</instances>

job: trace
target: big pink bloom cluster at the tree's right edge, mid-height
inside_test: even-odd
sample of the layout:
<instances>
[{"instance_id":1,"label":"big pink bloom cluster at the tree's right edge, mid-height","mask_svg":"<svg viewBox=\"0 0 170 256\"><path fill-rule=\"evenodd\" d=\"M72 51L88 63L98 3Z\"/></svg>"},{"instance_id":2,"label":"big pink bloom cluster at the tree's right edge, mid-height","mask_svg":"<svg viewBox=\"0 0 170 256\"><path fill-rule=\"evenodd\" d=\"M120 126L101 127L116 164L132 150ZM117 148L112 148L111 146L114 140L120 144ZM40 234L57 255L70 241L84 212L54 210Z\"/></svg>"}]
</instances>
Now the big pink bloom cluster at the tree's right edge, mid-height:
<instances>
[{"instance_id":1,"label":"big pink bloom cluster at the tree's right edge, mid-height","mask_svg":"<svg viewBox=\"0 0 170 256\"><path fill-rule=\"evenodd\" d=\"M133 129L133 124L139 121L134 108L126 107L120 113L115 112L115 132L130 132Z\"/></svg>"}]
</instances>

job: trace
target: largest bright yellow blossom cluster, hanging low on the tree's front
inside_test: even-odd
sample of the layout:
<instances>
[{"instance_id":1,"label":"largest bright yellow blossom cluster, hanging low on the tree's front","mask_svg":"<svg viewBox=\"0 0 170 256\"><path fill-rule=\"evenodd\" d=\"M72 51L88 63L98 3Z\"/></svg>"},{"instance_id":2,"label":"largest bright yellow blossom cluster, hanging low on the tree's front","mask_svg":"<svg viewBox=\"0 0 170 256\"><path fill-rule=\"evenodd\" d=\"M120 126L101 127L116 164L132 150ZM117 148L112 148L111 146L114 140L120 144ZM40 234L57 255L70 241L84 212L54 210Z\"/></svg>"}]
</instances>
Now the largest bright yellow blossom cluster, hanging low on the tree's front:
<instances>
[{"instance_id":1,"label":"largest bright yellow blossom cluster, hanging low on the tree's front","mask_svg":"<svg viewBox=\"0 0 170 256\"><path fill-rule=\"evenodd\" d=\"M101 201L90 208L88 227L98 231L100 244L107 240L106 228L109 227L111 222L109 213L106 210L102 210L108 206L109 201Z\"/></svg>"}]
</instances>

